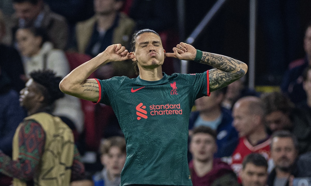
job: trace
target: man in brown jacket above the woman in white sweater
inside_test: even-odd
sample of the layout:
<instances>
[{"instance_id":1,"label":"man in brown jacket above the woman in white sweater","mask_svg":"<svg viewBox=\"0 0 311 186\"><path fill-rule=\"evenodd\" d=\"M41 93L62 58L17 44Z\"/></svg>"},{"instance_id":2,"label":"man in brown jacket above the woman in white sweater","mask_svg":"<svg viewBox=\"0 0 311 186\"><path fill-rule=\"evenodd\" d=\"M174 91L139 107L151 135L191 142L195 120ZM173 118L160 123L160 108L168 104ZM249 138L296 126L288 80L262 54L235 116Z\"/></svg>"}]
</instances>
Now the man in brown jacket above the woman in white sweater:
<instances>
[{"instance_id":1,"label":"man in brown jacket above the woman in white sweater","mask_svg":"<svg viewBox=\"0 0 311 186\"><path fill-rule=\"evenodd\" d=\"M18 28L36 27L46 30L49 40L55 48L65 49L68 40L66 19L52 12L43 0L13 0L15 14L10 21L12 43L15 43L15 32Z\"/></svg>"}]
</instances>

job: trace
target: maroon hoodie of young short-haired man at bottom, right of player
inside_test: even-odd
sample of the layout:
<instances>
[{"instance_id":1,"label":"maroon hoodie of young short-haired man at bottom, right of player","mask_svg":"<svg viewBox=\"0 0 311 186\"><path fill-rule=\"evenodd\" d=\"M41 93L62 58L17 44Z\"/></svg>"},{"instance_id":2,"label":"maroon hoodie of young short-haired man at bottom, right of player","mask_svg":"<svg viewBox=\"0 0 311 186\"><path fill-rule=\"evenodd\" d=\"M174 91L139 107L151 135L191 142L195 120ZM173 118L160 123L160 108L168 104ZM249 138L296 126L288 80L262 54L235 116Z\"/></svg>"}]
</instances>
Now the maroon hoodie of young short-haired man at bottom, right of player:
<instances>
[{"instance_id":1,"label":"maroon hoodie of young short-haired man at bottom, right of player","mask_svg":"<svg viewBox=\"0 0 311 186\"><path fill-rule=\"evenodd\" d=\"M219 177L225 174L233 173L230 165L222 162L218 158L214 159L212 170L203 177L199 177L195 172L193 167L193 160L189 162L189 170L193 186L210 186Z\"/></svg>"}]
</instances>

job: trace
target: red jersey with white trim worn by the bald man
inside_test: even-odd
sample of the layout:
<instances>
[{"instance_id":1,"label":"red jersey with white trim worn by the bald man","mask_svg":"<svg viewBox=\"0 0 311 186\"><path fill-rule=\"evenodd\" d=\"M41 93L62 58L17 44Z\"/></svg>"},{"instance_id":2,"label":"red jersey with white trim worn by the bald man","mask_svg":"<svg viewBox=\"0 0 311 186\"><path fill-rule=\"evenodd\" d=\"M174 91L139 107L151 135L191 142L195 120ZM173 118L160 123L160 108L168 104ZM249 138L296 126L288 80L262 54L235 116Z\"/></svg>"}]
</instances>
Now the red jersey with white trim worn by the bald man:
<instances>
[{"instance_id":1,"label":"red jersey with white trim worn by the bald man","mask_svg":"<svg viewBox=\"0 0 311 186\"><path fill-rule=\"evenodd\" d=\"M271 138L264 140L263 142L253 146L245 137L239 139L239 144L235 148L231 157L231 168L239 177L239 172L242 170L242 162L245 156L250 153L260 153L267 160L270 159L270 144ZM239 180L240 182L240 180Z\"/></svg>"}]
</instances>

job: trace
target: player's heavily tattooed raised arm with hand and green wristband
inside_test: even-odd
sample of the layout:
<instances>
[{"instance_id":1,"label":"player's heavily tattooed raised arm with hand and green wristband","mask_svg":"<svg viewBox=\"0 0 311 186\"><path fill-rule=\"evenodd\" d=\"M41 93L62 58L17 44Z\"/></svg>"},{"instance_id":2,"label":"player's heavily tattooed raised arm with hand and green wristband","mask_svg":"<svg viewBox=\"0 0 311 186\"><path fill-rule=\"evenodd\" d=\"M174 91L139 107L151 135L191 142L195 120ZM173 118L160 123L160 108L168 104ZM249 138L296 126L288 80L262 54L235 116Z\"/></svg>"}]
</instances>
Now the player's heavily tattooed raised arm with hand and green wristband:
<instances>
[{"instance_id":1,"label":"player's heavily tattooed raised arm with hand and green wristband","mask_svg":"<svg viewBox=\"0 0 311 186\"><path fill-rule=\"evenodd\" d=\"M209 70L210 91L215 91L241 78L247 72L247 65L225 55L196 50L192 45L181 42L173 48L174 53L165 53L166 57L180 60L194 60L215 67Z\"/></svg>"}]
</instances>

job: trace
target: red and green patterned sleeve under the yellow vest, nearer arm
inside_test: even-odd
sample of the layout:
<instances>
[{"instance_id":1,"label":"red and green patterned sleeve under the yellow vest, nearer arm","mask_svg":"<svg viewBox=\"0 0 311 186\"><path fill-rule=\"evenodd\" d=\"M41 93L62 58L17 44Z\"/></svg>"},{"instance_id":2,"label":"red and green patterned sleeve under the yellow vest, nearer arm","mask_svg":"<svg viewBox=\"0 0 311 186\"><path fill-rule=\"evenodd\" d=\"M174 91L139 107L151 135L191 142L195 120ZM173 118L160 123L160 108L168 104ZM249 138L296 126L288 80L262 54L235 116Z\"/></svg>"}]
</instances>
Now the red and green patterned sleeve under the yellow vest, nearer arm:
<instances>
[{"instance_id":1,"label":"red and green patterned sleeve under the yellow vest, nearer arm","mask_svg":"<svg viewBox=\"0 0 311 186\"><path fill-rule=\"evenodd\" d=\"M39 123L27 120L19 133L19 155L13 161L0 153L0 172L13 178L28 181L33 179L44 151L45 133Z\"/></svg>"}]
</instances>

